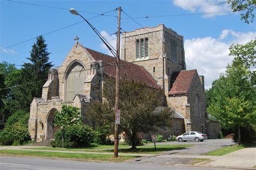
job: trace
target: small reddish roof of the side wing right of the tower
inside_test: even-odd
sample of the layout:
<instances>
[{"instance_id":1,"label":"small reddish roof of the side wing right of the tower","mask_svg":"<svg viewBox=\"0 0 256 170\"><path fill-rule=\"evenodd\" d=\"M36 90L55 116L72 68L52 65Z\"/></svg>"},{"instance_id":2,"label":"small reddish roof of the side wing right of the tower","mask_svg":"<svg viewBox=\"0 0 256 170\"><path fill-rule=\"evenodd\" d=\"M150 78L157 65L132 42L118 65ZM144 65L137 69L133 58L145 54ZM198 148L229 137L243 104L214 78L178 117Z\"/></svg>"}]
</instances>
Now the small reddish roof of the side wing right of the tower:
<instances>
[{"instance_id":1,"label":"small reddish roof of the side wing right of the tower","mask_svg":"<svg viewBox=\"0 0 256 170\"><path fill-rule=\"evenodd\" d=\"M196 73L196 69L174 72L171 77L171 82L173 82L173 84L171 90L169 91L169 95L187 94L193 80L193 76Z\"/></svg>"}]
</instances>

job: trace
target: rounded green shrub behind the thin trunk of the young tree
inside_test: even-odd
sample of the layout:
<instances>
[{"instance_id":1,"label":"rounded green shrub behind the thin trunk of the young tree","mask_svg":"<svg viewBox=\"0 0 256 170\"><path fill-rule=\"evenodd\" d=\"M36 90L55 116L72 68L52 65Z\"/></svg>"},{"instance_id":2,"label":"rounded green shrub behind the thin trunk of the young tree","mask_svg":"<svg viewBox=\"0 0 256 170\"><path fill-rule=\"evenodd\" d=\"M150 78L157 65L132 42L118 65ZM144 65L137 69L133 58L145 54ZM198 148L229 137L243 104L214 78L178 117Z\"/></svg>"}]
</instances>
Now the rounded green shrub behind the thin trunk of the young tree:
<instances>
[{"instance_id":1,"label":"rounded green shrub behind the thin trunk of the young tree","mask_svg":"<svg viewBox=\"0 0 256 170\"><path fill-rule=\"evenodd\" d=\"M52 147L62 147L62 133L62 129L55 133L55 141L51 143ZM93 131L87 125L68 126L64 131L64 147L86 147L92 143L93 138Z\"/></svg>"}]
</instances>

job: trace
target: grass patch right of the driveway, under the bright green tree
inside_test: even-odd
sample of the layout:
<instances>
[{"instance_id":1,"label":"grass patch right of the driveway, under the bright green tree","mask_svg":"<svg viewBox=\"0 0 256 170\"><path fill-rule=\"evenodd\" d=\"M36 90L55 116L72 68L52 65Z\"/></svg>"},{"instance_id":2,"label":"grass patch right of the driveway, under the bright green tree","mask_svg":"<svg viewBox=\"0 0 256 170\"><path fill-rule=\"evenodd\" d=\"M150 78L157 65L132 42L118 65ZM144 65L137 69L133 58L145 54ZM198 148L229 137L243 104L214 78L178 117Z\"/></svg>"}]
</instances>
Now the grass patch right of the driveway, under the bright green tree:
<instances>
[{"instance_id":1,"label":"grass patch right of the driveway, under the bright green tree","mask_svg":"<svg viewBox=\"0 0 256 170\"><path fill-rule=\"evenodd\" d=\"M241 150L246 147L255 147L255 144L241 144L241 145L226 146L226 147L219 148L218 150L208 152L206 153L206 155L221 156L234 151Z\"/></svg>"}]
</instances>

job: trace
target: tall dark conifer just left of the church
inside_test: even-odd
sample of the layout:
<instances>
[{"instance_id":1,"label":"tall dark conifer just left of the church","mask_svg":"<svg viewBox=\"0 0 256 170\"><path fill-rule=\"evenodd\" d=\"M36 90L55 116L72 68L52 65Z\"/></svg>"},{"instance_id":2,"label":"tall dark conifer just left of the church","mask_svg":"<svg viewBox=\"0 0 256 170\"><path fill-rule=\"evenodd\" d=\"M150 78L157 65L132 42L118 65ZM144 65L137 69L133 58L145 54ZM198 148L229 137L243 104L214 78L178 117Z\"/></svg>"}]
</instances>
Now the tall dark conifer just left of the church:
<instances>
[{"instance_id":1,"label":"tall dark conifer just left of the church","mask_svg":"<svg viewBox=\"0 0 256 170\"><path fill-rule=\"evenodd\" d=\"M23 84L16 88L12 88L13 100L9 105L10 112L16 110L29 111L30 102L33 97L42 97L42 87L48 79L49 69L52 67L49 62L49 52L47 44L43 36L38 36L36 43L33 44L30 51L30 60L24 63L17 77L15 77L15 84ZM10 75L14 77L14 75Z\"/></svg>"}]
</instances>

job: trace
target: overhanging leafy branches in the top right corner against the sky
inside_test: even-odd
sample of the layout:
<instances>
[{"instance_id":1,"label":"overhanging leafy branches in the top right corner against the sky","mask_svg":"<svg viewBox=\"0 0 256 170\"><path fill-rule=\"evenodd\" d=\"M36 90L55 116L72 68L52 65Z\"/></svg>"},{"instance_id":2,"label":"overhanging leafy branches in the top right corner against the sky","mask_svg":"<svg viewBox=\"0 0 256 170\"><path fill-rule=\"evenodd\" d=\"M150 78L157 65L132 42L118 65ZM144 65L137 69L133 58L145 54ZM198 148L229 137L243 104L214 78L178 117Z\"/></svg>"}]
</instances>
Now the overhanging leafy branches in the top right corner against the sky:
<instances>
[{"instance_id":1,"label":"overhanging leafy branches in the top right corner against the sky","mask_svg":"<svg viewBox=\"0 0 256 170\"><path fill-rule=\"evenodd\" d=\"M242 12L240 13L241 20L244 20L247 24L253 23L255 0L227 0L227 3L231 5L233 12Z\"/></svg>"}]
</instances>

